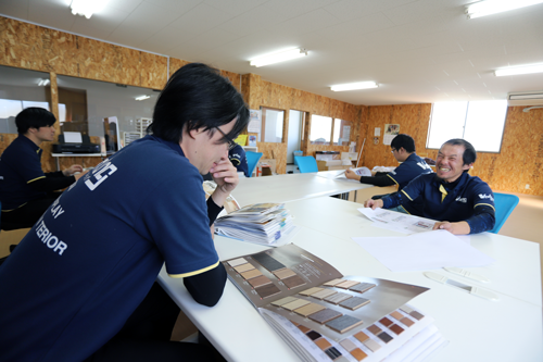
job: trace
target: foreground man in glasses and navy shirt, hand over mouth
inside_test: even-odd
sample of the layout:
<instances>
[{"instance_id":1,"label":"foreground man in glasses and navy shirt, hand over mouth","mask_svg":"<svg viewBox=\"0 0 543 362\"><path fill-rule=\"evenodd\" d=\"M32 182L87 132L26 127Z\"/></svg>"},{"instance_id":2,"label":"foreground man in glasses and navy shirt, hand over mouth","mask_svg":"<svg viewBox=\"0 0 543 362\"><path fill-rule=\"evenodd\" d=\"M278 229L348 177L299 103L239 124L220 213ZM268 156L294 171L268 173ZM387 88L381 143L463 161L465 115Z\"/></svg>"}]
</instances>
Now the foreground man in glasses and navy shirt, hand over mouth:
<instances>
[{"instance_id":1,"label":"foreground man in glasses and navy shirt, hand over mouth","mask_svg":"<svg viewBox=\"0 0 543 362\"><path fill-rule=\"evenodd\" d=\"M169 341L179 308L155 279L165 263L197 302L220 299L210 226L239 183L228 148L248 122L217 70L175 72L152 135L64 191L0 267L2 360L213 360L204 345ZM209 172L217 188L206 201Z\"/></svg>"}]
</instances>

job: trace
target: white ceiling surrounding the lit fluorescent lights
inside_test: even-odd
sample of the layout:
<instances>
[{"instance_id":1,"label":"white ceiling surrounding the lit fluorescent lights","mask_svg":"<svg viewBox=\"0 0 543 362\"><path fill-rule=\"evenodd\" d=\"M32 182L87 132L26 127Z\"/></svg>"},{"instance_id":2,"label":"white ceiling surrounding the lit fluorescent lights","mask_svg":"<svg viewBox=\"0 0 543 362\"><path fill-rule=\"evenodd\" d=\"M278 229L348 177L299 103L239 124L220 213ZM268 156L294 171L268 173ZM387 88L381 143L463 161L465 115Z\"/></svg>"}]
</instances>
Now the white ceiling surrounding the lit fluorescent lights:
<instances>
[{"instance_id":1,"label":"white ceiling surrounding the lit fluorescent lights","mask_svg":"<svg viewBox=\"0 0 543 362\"><path fill-rule=\"evenodd\" d=\"M514 0L512 0L514 1ZM342 100L379 105L505 99L543 90L543 74L495 77L543 63L543 4L467 20L472 0L109 0L90 20L71 0L0 0L0 14ZM291 47L310 55L253 67ZM379 88L333 92L334 84Z\"/></svg>"}]
</instances>

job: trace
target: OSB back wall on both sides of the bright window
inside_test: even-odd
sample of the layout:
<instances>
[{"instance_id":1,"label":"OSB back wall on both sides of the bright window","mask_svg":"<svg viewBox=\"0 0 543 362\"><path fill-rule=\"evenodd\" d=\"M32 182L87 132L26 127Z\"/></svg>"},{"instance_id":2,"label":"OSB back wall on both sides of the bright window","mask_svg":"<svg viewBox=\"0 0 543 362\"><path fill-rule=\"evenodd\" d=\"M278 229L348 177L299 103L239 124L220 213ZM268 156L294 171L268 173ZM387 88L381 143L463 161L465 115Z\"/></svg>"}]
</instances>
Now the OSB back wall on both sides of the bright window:
<instances>
[{"instance_id":1,"label":"OSB back wall on both sides of the bright window","mask_svg":"<svg viewBox=\"0 0 543 362\"><path fill-rule=\"evenodd\" d=\"M495 191L543 196L543 109L522 112L525 107L509 107L500 153L478 152L471 175L489 183ZM435 159L437 150L426 148L431 104L368 107L361 138L366 138L364 165L397 165L384 146L386 124L400 124L400 133L415 139L417 153ZM379 143L374 143L374 129L381 128ZM469 140L469 139L468 139ZM527 189L526 185L530 185Z\"/></svg>"}]
</instances>

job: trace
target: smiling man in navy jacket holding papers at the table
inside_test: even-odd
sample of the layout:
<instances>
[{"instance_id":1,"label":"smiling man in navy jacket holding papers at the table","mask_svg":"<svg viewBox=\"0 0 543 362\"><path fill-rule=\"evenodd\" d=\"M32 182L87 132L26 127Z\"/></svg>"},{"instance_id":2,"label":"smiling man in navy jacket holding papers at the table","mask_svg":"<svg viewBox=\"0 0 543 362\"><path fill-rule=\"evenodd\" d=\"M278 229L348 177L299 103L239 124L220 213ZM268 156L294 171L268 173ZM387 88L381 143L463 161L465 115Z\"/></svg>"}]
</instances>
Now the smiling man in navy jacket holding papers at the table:
<instances>
[{"instance_id":1,"label":"smiling man in navy jacket holding papers at the table","mask_svg":"<svg viewBox=\"0 0 543 362\"><path fill-rule=\"evenodd\" d=\"M401 192L380 200L367 200L366 208L391 209L414 200L424 201L424 217L437 220L433 229L453 234L491 230L495 223L494 195L489 185L468 174L477 159L470 142L455 138L441 146L435 174L420 175Z\"/></svg>"}]
</instances>

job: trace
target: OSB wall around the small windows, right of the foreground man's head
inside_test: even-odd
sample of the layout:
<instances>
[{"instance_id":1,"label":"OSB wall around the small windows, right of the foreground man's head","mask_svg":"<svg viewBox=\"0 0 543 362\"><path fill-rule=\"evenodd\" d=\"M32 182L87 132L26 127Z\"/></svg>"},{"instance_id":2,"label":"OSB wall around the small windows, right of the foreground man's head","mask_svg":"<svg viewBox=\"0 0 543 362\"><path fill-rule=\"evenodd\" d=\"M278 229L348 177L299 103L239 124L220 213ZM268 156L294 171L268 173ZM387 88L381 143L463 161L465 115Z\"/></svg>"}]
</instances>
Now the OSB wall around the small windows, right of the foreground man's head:
<instances>
[{"instance_id":1,"label":"OSB wall around the small windows, right of the foreground man's head","mask_svg":"<svg viewBox=\"0 0 543 362\"><path fill-rule=\"evenodd\" d=\"M261 107L268 107L285 111L285 127L281 143L257 142L258 152L263 152L263 159L276 159L277 173L285 174L287 168L287 141L289 129L289 110L307 112L310 116L305 123L305 132L311 128L311 115L317 114L353 122L351 140L359 142L357 139L361 126L361 105L353 105L331 98L310 93L300 89L289 88L278 84L263 80L258 75L245 74L242 76L242 93L250 109L258 110ZM304 154L315 155L315 151L349 151L348 146L324 146L308 145L306 142L302 149Z\"/></svg>"}]
</instances>

